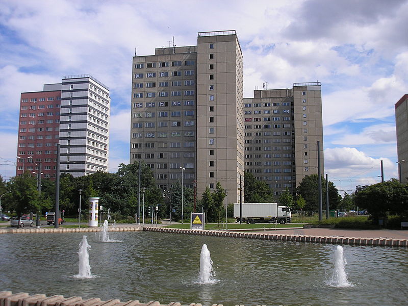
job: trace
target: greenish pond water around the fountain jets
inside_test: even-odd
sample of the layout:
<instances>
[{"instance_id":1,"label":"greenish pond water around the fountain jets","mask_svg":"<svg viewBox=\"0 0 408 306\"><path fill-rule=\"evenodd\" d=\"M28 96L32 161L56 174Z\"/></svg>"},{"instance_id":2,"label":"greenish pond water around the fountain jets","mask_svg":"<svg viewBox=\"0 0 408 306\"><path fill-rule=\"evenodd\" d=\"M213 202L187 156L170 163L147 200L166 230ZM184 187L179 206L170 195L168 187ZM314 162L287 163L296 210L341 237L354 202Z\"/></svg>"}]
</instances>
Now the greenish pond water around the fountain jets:
<instances>
[{"instance_id":1,"label":"greenish pond water around the fountain jets","mask_svg":"<svg viewBox=\"0 0 408 306\"><path fill-rule=\"evenodd\" d=\"M155 232L87 233L89 279L78 279L81 233L0 235L0 290L205 305L406 305L408 249L343 246L350 287L328 285L337 245ZM216 282L197 282L207 244ZM405 292L405 293L404 293Z\"/></svg>"}]
</instances>

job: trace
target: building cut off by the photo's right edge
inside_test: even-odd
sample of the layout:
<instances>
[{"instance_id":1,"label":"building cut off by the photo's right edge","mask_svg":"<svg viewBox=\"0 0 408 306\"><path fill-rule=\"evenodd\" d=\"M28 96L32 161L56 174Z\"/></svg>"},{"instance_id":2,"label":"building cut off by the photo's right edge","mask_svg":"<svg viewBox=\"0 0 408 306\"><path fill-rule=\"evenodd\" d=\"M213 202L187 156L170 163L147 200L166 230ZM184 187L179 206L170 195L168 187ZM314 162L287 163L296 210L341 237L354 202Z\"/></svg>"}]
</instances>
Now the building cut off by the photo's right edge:
<instances>
[{"instance_id":1,"label":"building cut off by the photo's right edge","mask_svg":"<svg viewBox=\"0 0 408 306\"><path fill-rule=\"evenodd\" d=\"M397 131L398 176L406 184L408 178L408 94L395 104L395 126Z\"/></svg>"}]
</instances>

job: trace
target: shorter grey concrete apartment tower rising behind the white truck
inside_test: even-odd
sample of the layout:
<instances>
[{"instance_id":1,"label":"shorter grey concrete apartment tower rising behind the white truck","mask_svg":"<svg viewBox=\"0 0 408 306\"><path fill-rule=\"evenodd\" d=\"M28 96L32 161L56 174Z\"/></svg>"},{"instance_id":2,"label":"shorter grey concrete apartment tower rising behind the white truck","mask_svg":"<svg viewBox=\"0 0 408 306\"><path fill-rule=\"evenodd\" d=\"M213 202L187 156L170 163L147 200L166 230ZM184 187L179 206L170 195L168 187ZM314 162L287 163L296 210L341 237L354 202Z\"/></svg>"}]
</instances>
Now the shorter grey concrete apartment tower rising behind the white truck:
<instances>
[{"instance_id":1,"label":"shorter grey concrete apartment tower rising behind the white truck","mask_svg":"<svg viewBox=\"0 0 408 306\"><path fill-rule=\"evenodd\" d=\"M244 99L245 171L268 183L276 197L286 188L293 193L304 176L318 173L320 141L323 175L320 83L255 90L253 96Z\"/></svg>"}]
</instances>

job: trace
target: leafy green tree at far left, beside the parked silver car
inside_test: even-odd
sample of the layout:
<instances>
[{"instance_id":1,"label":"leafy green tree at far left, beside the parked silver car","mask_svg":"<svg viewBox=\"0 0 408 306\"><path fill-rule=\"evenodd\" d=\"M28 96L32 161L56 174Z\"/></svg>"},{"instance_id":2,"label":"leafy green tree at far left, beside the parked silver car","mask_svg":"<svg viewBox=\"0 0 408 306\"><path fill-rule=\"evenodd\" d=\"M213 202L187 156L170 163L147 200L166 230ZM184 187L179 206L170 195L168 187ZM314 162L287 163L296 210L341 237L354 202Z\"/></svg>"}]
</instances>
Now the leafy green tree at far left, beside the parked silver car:
<instances>
[{"instance_id":1,"label":"leafy green tree at far left, beside the parked silver car","mask_svg":"<svg viewBox=\"0 0 408 306\"><path fill-rule=\"evenodd\" d=\"M37 180L29 172L24 172L21 176L12 177L8 188L10 193L6 196L18 216L17 227L19 227L22 214L37 212L41 208Z\"/></svg>"}]
</instances>

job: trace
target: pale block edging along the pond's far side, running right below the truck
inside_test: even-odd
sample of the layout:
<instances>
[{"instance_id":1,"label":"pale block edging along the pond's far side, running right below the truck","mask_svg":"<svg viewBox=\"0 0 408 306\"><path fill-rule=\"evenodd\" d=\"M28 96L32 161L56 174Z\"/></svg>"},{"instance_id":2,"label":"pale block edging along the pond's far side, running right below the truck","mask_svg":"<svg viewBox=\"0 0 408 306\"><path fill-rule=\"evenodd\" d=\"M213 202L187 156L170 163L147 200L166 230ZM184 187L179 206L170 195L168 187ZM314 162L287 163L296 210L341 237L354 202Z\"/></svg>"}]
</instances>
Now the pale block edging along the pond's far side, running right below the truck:
<instances>
[{"instance_id":1,"label":"pale block edging along the pond's far side, running right below the truck","mask_svg":"<svg viewBox=\"0 0 408 306\"><path fill-rule=\"evenodd\" d=\"M201 230L185 230L182 228L168 228L168 227L143 227L143 231L216 236L216 237L233 237L233 238L249 238L249 239L277 240L277 241L326 243L326 244L408 247L408 239L286 235L286 234L275 234L275 233L274 234L263 234L263 233L243 233L243 232L226 232L226 231L207 231L207 230L201 231Z\"/></svg>"}]
</instances>

